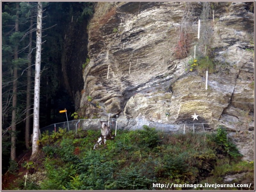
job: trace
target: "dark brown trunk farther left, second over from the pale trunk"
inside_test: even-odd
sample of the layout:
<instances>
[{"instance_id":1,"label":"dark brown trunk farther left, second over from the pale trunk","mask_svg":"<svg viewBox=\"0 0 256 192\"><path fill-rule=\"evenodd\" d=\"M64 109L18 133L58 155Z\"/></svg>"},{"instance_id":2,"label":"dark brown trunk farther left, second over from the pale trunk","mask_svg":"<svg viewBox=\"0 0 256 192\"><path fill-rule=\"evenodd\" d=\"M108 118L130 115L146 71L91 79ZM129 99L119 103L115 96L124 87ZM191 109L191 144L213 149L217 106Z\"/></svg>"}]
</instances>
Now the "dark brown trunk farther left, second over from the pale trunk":
<instances>
[{"instance_id":1,"label":"dark brown trunk farther left, second over from the pale trunk","mask_svg":"<svg viewBox=\"0 0 256 192\"><path fill-rule=\"evenodd\" d=\"M16 4L16 20L15 20L15 32L19 31L19 3ZM14 60L18 59L18 48L19 45L14 47ZM11 159L16 158L16 108L17 108L17 79L18 79L18 67L14 66L13 69L13 91L12 91L12 138L11 138Z\"/></svg>"}]
</instances>

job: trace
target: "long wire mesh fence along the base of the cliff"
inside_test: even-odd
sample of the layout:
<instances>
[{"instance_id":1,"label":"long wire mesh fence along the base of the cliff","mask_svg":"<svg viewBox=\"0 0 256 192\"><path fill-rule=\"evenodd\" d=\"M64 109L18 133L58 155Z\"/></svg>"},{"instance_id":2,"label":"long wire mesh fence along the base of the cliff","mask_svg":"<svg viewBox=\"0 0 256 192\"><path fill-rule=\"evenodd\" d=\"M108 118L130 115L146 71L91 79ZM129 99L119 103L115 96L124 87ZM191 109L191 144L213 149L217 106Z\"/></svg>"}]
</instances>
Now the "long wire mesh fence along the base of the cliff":
<instances>
[{"instance_id":1,"label":"long wire mesh fence along the base of the cliff","mask_svg":"<svg viewBox=\"0 0 256 192\"><path fill-rule=\"evenodd\" d=\"M150 121L140 121L140 120L132 120L132 119L79 119L68 122L61 122L51 124L47 127L40 129L40 133L43 133L48 130L49 133L57 132L59 128L65 128L68 131L77 131L78 129L82 130L99 130L101 129L101 121L108 122L108 126L112 130L121 129L121 130L137 130L143 129L143 125L147 125L148 127L154 127L158 131L163 132L183 132L186 133L188 131L193 132L205 132L207 128L205 124L208 123L194 123L194 124L164 124L158 122L150 122Z\"/></svg>"}]
</instances>

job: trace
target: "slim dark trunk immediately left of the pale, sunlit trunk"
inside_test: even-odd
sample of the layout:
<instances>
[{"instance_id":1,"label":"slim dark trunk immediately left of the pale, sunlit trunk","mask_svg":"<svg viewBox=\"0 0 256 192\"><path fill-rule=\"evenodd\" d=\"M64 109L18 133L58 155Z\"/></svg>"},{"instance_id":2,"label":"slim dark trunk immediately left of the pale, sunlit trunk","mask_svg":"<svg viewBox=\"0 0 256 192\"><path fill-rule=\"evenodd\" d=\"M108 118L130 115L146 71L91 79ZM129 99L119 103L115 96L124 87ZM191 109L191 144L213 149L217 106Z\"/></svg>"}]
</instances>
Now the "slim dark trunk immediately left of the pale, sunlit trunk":
<instances>
[{"instance_id":1,"label":"slim dark trunk immediately left of the pale, sunlit trunk","mask_svg":"<svg viewBox=\"0 0 256 192\"><path fill-rule=\"evenodd\" d=\"M30 29L32 29L33 21L30 21ZM31 61L32 61L32 31L29 33L29 48L28 48L28 74L27 74L27 103L26 103L26 128L25 128L25 143L26 148L29 148L29 129L30 129L30 88L31 88Z\"/></svg>"}]
</instances>

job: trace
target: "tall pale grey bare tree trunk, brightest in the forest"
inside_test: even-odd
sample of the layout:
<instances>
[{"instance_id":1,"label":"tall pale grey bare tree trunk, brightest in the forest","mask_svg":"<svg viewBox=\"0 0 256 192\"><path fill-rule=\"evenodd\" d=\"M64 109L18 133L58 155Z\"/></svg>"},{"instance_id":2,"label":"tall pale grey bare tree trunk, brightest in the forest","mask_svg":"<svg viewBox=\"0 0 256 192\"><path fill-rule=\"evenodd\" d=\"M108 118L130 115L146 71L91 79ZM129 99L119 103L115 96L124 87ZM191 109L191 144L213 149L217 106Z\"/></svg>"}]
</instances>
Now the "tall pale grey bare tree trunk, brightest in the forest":
<instances>
[{"instance_id":1,"label":"tall pale grey bare tree trunk, brightest in the forest","mask_svg":"<svg viewBox=\"0 0 256 192\"><path fill-rule=\"evenodd\" d=\"M34 159L39 146L39 97L40 97L40 65L41 65L41 47L42 47L42 2L37 5L37 29L36 29L36 69L35 69L35 92L34 92L34 118L33 118L33 139L32 154L30 159Z\"/></svg>"}]
</instances>

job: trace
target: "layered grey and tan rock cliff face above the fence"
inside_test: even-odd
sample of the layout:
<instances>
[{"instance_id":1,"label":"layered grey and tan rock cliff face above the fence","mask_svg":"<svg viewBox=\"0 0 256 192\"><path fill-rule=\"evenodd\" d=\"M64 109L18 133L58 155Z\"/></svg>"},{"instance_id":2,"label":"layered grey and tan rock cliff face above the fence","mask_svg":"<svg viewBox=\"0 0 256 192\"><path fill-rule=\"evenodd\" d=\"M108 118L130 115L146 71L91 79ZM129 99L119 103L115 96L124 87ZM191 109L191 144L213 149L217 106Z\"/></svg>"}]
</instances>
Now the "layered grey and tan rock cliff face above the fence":
<instances>
[{"instance_id":1,"label":"layered grey and tan rock cliff face above the fence","mask_svg":"<svg viewBox=\"0 0 256 192\"><path fill-rule=\"evenodd\" d=\"M192 2L189 6L193 10L186 23L191 42L189 54L177 58L175 47L187 5L186 2L95 5L88 26L90 63L84 70L81 116L103 118L110 113L120 119L182 124L192 123L191 115L196 113L197 122L209 123L211 128L220 124L239 137L242 130L247 133L242 137L252 134L254 54L249 49L254 50L251 43L254 14L244 2L212 3L206 17L208 47L200 49L197 26L204 4ZM205 32L202 25L201 38ZM208 76L207 90L204 73L187 70L188 61L194 57L194 45L198 47L196 56L210 53L215 63L213 73ZM92 101L88 102L87 96ZM168 120L166 112L170 113ZM157 114L161 119L157 119Z\"/></svg>"}]
</instances>

